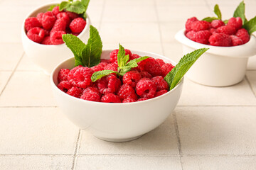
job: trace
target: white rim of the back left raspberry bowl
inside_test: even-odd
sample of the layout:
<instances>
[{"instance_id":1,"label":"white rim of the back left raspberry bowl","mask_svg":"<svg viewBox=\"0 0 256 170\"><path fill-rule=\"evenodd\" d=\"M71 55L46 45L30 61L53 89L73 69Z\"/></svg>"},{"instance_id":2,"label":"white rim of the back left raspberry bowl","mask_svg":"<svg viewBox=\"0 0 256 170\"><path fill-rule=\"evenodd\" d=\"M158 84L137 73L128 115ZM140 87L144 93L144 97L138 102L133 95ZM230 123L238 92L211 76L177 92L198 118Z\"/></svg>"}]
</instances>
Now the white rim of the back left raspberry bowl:
<instances>
[{"instance_id":1,"label":"white rim of the back left raspberry bowl","mask_svg":"<svg viewBox=\"0 0 256 170\"><path fill-rule=\"evenodd\" d=\"M60 4L60 2L53 1L53 2L46 3L46 4L42 4L41 6L37 6L35 9L30 11L26 15L25 19L23 19L22 26L21 26L21 36L23 36L24 38L29 40L29 42L31 42L33 45L39 45L39 46L43 45L43 44L40 44L40 43L37 43L37 42L33 42L33 40L28 38L28 36L26 35L26 30L25 30L25 21L26 21L26 18L31 17L31 15L35 11L38 11L41 8L45 8L46 6L50 7L50 6L55 5L55 4ZM80 38L85 33L86 30L89 30L90 25L91 25L90 16L86 13L86 25L85 25L85 28L82 30L82 32L77 37ZM65 46L65 43L60 44L60 45L43 45L43 47L62 47L62 46Z\"/></svg>"}]
</instances>

